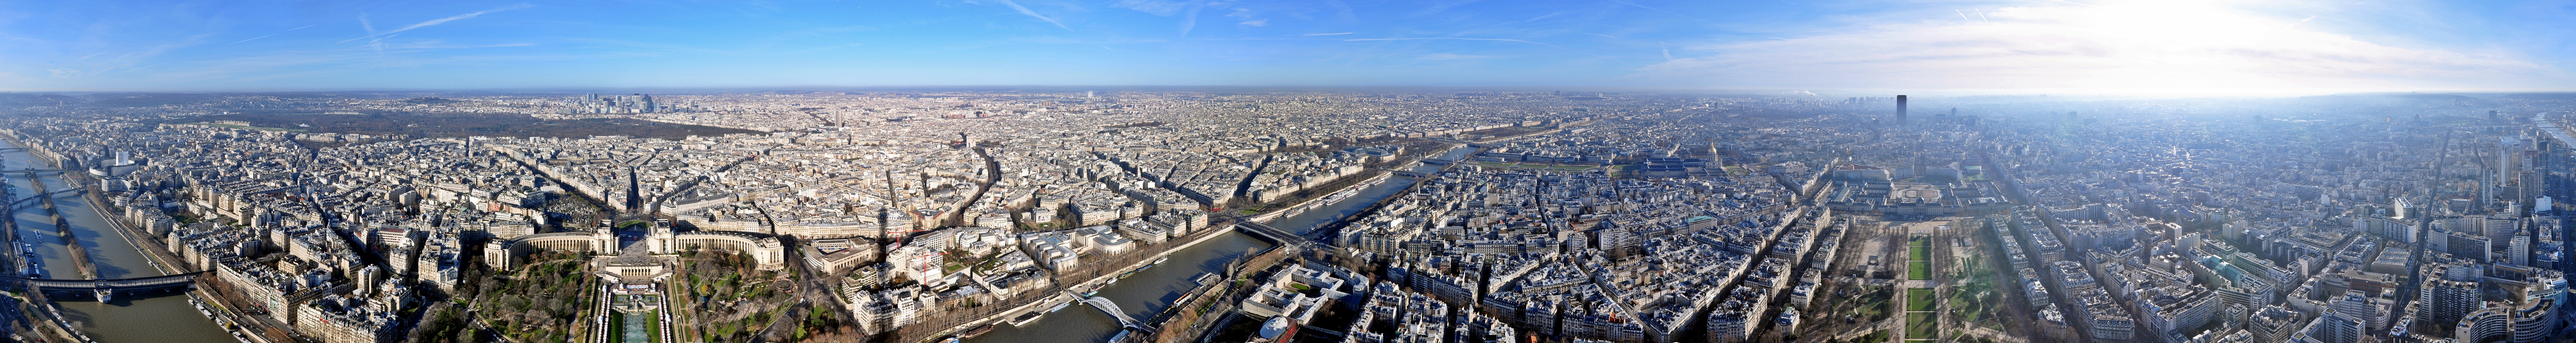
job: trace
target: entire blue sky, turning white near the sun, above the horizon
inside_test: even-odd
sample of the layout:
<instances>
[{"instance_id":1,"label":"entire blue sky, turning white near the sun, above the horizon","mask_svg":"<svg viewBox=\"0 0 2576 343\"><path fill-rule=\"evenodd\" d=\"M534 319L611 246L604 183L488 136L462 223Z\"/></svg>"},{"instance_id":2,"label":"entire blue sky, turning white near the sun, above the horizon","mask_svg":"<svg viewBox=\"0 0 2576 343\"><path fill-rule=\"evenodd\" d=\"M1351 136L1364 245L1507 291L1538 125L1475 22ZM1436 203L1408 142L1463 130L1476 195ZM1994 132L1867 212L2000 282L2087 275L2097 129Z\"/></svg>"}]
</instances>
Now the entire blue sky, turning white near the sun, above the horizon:
<instances>
[{"instance_id":1,"label":"entire blue sky, turning white near the sun, above the horizon","mask_svg":"<svg viewBox=\"0 0 2576 343\"><path fill-rule=\"evenodd\" d=\"M0 90L2571 90L2548 0L0 0Z\"/></svg>"}]
</instances>

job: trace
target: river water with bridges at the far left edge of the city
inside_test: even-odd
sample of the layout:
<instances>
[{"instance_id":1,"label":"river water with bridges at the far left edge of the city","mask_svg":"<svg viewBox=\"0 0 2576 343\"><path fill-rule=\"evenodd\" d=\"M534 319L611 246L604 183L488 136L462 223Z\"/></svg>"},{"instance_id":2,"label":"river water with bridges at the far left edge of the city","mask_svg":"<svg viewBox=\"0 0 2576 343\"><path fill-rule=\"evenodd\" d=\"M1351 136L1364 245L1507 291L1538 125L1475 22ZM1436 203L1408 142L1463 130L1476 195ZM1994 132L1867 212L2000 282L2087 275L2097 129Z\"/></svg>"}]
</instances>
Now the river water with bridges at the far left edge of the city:
<instances>
[{"instance_id":1,"label":"river water with bridges at the far left edge of the city","mask_svg":"<svg viewBox=\"0 0 2576 343\"><path fill-rule=\"evenodd\" d=\"M0 142L0 147L15 147ZM8 157L5 168L23 170L52 170L54 165L39 162L23 150L0 152ZM33 196L33 183L44 183L46 191L64 191L75 183L62 181L62 175L5 175L10 186L18 186L18 196ZM167 276L155 268L134 242L116 235L90 201L80 193L54 196L54 209L72 222L72 237L80 248L90 253L90 263L98 266L98 279L142 279L142 276ZM26 206L18 211L18 237L21 242L33 242L36 255L44 255L44 279L82 279L80 268L70 260L70 248L64 248L54 219L44 214L44 206ZM10 258L18 260L18 258ZM232 333L216 328L188 307L188 297L180 291L149 291L149 294L116 294L111 302L90 302L88 294L57 294L64 297L62 317L80 325L82 333L100 343L234 343Z\"/></svg>"}]
</instances>

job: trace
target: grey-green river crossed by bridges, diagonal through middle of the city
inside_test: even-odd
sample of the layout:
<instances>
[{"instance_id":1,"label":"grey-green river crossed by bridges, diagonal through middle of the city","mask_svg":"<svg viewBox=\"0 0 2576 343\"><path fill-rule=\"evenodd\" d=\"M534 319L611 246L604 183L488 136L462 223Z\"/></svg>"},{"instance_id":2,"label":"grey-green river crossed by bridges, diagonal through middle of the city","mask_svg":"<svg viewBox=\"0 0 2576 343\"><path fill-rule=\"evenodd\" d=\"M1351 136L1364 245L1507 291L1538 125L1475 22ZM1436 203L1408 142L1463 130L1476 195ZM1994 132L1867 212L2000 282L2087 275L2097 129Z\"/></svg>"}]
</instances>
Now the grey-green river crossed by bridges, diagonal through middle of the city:
<instances>
[{"instance_id":1,"label":"grey-green river crossed by bridges, diagonal through middle of the city","mask_svg":"<svg viewBox=\"0 0 2576 343\"><path fill-rule=\"evenodd\" d=\"M1473 150L1458 147L1445 152L1445 160L1461 160L1468 152ZM1440 173L1440 168L1443 165L1425 162L1414 170ZM1386 183L1360 188L1360 193L1352 193L1350 199L1306 209L1306 214L1270 219L1270 224L1303 235L1309 230L1332 224L1340 217L1368 211L1368 206L1378 204L1378 199L1394 196L1414 183L1419 183L1419 178L1388 175ZM1154 315L1159 315L1164 307L1172 307L1172 302L1180 302L1182 291L1198 289L1198 284L1193 281L1200 273L1224 273L1226 263L1234 263L1247 253L1267 248L1270 242L1262 242L1260 237L1244 232L1221 232L1221 237L1172 253L1172 260L1164 260L1162 266L1139 271L1136 276L1128 279L1118 279L1118 284L1100 289L1097 297L1118 302L1118 309L1126 309L1128 317L1154 322L1159 320ZM1038 317L1038 322L1028 322L1028 328L1012 328L1010 322L1002 322L992 333L966 338L966 343L1105 343L1113 335L1118 335L1118 330L1121 328L1115 317L1077 302L1064 309L1048 312L1046 317Z\"/></svg>"}]
</instances>

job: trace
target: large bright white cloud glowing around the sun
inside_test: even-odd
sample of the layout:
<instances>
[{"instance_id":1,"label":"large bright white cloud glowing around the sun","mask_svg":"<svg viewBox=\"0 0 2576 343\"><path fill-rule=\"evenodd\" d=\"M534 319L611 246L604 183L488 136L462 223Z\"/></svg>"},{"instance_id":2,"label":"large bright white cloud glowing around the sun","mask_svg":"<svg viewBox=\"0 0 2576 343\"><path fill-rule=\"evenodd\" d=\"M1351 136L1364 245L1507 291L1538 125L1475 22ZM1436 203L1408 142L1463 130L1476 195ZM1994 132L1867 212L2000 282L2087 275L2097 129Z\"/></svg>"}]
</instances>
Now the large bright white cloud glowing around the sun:
<instances>
[{"instance_id":1,"label":"large bright white cloud glowing around the sun","mask_svg":"<svg viewBox=\"0 0 2576 343\"><path fill-rule=\"evenodd\" d=\"M1984 21L1917 13L1819 36L1685 46L1633 77L1726 80L1728 88L2097 90L2262 95L2391 88L2550 88L2563 77L2501 52L2388 46L2231 3L2094 0L1978 10Z\"/></svg>"}]
</instances>

